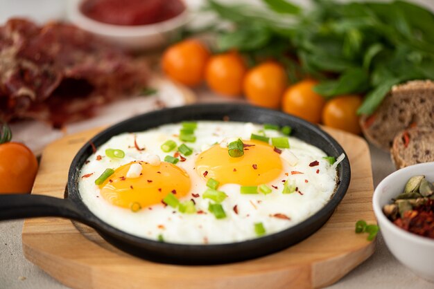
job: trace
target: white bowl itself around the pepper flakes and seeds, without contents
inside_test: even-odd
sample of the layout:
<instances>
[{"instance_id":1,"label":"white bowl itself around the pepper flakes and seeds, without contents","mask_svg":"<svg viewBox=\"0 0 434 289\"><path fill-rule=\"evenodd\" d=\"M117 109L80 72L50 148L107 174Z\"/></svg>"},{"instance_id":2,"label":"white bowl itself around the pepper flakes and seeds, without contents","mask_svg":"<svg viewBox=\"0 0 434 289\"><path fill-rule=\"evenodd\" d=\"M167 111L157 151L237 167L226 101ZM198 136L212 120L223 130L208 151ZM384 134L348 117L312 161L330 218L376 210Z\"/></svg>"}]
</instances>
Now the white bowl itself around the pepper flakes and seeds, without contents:
<instances>
[{"instance_id":1,"label":"white bowl itself around the pepper flakes and seeds, without contents","mask_svg":"<svg viewBox=\"0 0 434 289\"><path fill-rule=\"evenodd\" d=\"M390 252L415 274L434 282L434 240L418 236L394 225L383 214L383 205L403 192L409 178L425 175L434 181L434 162L412 165L395 171L376 187L372 203L381 234Z\"/></svg>"}]
</instances>

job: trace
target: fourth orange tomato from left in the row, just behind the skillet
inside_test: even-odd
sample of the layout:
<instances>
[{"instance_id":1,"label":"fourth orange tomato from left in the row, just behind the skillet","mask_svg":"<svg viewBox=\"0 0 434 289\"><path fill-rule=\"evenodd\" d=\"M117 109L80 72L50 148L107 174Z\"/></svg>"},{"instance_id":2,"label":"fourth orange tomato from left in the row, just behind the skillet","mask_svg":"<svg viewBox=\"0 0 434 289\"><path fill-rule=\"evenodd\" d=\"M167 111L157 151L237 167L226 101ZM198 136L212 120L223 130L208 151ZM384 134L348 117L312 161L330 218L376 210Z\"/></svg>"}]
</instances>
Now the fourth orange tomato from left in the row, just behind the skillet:
<instances>
[{"instance_id":1,"label":"fourth orange tomato from left in the row, just behind the skillet","mask_svg":"<svg viewBox=\"0 0 434 289\"><path fill-rule=\"evenodd\" d=\"M316 84L315 80L302 80L289 86L284 93L282 110L309 122L320 122L325 99L313 91Z\"/></svg>"}]
</instances>

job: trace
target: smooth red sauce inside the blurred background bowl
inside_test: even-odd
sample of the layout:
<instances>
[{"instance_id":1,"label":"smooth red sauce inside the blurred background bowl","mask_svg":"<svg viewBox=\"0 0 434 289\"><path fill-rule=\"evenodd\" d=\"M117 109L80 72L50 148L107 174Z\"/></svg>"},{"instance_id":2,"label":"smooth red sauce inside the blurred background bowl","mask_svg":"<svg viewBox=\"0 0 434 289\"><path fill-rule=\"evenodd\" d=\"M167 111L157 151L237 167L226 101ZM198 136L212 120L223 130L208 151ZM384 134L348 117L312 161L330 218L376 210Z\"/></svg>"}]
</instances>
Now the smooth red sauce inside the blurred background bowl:
<instances>
[{"instance_id":1,"label":"smooth red sauce inside the blurred background bowl","mask_svg":"<svg viewBox=\"0 0 434 289\"><path fill-rule=\"evenodd\" d=\"M80 9L87 17L106 24L137 26L176 17L185 5L181 0L85 0Z\"/></svg>"}]
</instances>

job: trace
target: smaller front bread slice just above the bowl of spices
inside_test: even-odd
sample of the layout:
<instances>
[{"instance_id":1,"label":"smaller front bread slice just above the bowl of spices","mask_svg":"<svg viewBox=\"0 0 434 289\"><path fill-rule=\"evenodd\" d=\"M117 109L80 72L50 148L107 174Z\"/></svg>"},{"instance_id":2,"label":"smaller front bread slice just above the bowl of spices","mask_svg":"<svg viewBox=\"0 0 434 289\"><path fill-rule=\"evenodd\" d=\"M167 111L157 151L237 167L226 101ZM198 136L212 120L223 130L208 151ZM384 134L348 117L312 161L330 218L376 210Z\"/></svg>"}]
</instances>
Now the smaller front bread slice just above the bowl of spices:
<instances>
[{"instance_id":1,"label":"smaller front bread slice just above the bowl of spices","mask_svg":"<svg viewBox=\"0 0 434 289\"><path fill-rule=\"evenodd\" d=\"M413 127L399 132L393 140L390 157L397 169L434 162L434 129Z\"/></svg>"}]
</instances>

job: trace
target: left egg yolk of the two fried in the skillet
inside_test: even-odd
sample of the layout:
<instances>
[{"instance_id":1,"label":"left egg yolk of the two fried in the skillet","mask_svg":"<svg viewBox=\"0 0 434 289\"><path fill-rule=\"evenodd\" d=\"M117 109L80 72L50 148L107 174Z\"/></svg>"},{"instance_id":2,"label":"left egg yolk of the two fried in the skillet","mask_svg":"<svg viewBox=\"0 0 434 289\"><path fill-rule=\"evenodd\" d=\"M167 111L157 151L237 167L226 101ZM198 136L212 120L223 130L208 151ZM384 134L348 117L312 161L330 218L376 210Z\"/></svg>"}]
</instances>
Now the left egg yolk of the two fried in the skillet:
<instances>
[{"instance_id":1,"label":"left egg yolk of the two fried in the skillet","mask_svg":"<svg viewBox=\"0 0 434 289\"><path fill-rule=\"evenodd\" d=\"M140 207L148 207L161 204L168 193L182 198L190 190L190 177L180 167L168 162L161 162L158 166L139 162L141 175L138 178L127 178L133 163L117 168L100 185L101 195L113 205L130 208L132 204L139 203Z\"/></svg>"}]
</instances>

